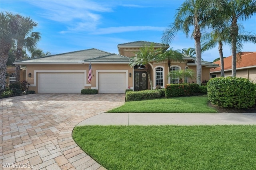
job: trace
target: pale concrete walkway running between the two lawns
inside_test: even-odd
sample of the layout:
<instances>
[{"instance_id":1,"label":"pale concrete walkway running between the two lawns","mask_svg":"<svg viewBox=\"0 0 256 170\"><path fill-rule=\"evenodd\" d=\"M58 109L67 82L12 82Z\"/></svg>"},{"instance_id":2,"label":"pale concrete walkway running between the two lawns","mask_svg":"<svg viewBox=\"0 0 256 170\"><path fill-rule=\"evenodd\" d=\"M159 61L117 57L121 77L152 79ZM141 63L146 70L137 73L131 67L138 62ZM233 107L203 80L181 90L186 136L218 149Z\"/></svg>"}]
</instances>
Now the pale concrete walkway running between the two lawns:
<instances>
[{"instance_id":1,"label":"pale concrete walkway running between the two lawns","mask_svg":"<svg viewBox=\"0 0 256 170\"><path fill-rule=\"evenodd\" d=\"M256 113L102 113L84 125L255 125Z\"/></svg>"}]
</instances>

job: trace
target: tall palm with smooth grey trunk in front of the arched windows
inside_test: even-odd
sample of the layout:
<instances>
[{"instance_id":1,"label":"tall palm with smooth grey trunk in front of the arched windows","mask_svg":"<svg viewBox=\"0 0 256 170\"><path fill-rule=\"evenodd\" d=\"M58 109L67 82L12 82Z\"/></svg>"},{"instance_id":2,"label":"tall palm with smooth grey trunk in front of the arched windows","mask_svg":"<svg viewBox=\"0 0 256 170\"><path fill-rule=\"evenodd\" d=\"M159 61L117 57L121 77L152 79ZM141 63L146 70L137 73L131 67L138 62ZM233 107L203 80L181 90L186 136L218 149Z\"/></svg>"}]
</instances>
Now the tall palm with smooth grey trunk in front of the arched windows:
<instances>
[{"instance_id":1,"label":"tall palm with smooth grey trunk in front of the arched windows","mask_svg":"<svg viewBox=\"0 0 256 170\"><path fill-rule=\"evenodd\" d=\"M178 8L175 14L175 21L169 28L164 30L162 42L168 44L171 42L178 31L182 30L186 36L190 32L190 26L193 26L193 38L196 49L196 83L201 85L202 57L201 57L201 30L206 28L208 22L208 12L212 7L210 0L186 0Z\"/></svg>"}]
</instances>

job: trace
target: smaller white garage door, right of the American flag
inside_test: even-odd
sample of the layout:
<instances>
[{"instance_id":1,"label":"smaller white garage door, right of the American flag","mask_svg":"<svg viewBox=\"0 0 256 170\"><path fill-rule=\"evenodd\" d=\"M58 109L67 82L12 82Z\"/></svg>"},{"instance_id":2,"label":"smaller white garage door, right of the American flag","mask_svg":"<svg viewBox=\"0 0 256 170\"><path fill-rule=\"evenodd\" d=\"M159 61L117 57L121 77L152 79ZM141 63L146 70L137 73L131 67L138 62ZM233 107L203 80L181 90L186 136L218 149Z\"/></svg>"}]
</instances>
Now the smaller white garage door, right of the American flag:
<instances>
[{"instance_id":1,"label":"smaller white garage door, right of the American flag","mask_svg":"<svg viewBox=\"0 0 256 170\"><path fill-rule=\"evenodd\" d=\"M99 93L125 93L125 72L99 72Z\"/></svg>"}]
</instances>

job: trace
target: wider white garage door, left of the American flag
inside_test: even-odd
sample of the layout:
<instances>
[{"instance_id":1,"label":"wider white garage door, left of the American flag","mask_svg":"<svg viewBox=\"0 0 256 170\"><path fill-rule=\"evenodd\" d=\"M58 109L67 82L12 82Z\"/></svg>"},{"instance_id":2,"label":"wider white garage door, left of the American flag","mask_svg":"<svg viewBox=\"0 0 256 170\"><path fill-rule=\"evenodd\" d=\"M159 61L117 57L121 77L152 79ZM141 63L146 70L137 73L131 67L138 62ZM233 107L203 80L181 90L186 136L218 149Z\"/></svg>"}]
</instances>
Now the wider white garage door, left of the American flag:
<instances>
[{"instance_id":1,"label":"wider white garage door, left of the American flag","mask_svg":"<svg viewBox=\"0 0 256 170\"><path fill-rule=\"evenodd\" d=\"M38 93L80 93L83 72L38 73Z\"/></svg>"}]
</instances>

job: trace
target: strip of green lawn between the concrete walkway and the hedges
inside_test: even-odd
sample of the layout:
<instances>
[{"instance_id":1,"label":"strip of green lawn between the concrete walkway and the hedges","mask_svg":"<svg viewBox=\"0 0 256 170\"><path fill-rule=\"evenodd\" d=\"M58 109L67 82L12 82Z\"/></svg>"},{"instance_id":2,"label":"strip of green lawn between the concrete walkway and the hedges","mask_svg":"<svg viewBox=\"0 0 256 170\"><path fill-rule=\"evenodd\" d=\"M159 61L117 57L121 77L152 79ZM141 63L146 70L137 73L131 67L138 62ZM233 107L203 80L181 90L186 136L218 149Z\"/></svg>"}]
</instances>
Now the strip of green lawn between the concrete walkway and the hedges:
<instances>
[{"instance_id":1,"label":"strip of green lawn between the concrete walkway and the hedges","mask_svg":"<svg viewBox=\"0 0 256 170\"><path fill-rule=\"evenodd\" d=\"M217 110L207 106L208 96L177 98L158 98L125 102L114 108L112 113L216 113Z\"/></svg>"}]
</instances>

